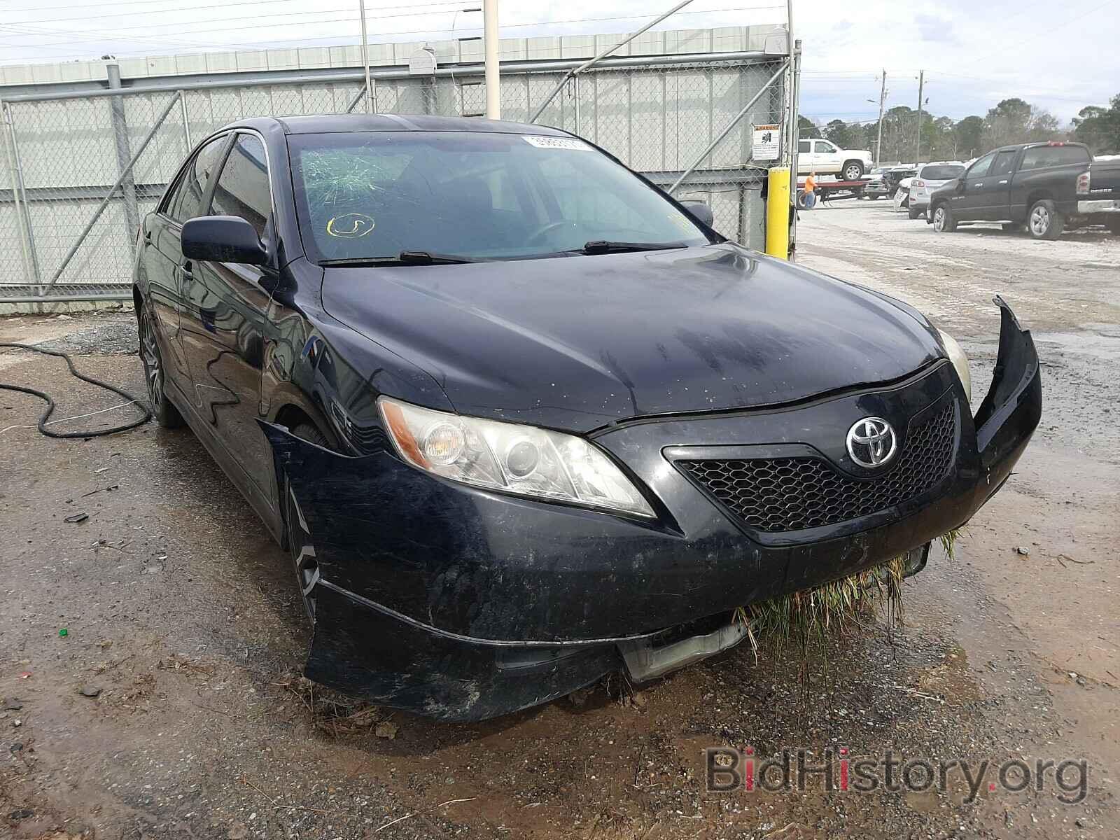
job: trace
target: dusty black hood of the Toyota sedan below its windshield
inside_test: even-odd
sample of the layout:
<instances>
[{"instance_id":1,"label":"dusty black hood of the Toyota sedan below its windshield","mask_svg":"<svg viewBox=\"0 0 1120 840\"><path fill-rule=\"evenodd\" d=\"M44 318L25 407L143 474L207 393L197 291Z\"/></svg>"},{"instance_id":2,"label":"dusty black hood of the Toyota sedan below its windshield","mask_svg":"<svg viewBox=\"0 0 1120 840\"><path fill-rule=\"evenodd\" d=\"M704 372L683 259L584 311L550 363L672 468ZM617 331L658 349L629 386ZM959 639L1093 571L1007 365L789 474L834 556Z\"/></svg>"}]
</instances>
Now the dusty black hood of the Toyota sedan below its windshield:
<instances>
[{"instance_id":1,"label":"dusty black hood of the Toyota sedan below its windshield","mask_svg":"<svg viewBox=\"0 0 1120 840\"><path fill-rule=\"evenodd\" d=\"M430 373L460 413L572 431L803 400L943 355L909 307L729 243L333 267L323 301Z\"/></svg>"}]
</instances>

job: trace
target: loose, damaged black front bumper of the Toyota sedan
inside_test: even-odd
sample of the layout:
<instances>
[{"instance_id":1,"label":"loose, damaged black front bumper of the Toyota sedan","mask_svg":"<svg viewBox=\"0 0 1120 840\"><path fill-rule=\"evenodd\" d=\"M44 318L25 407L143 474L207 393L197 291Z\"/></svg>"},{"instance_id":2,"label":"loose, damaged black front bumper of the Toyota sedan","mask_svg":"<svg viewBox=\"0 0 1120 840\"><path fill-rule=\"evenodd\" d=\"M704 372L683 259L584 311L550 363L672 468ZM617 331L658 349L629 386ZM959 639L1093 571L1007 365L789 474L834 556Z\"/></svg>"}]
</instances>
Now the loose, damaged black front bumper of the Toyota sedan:
<instances>
[{"instance_id":1,"label":"loose, damaged black front bumper of the Toyota sedan","mask_svg":"<svg viewBox=\"0 0 1120 840\"><path fill-rule=\"evenodd\" d=\"M347 457L265 426L318 559L307 676L380 704L479 720L619 668L660 676L741 641L729 623L738 606L921 551L1002 485L1038 424L1034 343L997 304L999 357L974 419L943 362L878 391L594 436L650 489L654 521L502 495L432 477L388 449ZM884 478L844 473L842 456L844 432L869 414L909 430L903 452L915 418L951 414L951 463L916 495L850 520L760 528L684 466L812 459L842 487L870 485Z\"/></svg>"}]
</instances>

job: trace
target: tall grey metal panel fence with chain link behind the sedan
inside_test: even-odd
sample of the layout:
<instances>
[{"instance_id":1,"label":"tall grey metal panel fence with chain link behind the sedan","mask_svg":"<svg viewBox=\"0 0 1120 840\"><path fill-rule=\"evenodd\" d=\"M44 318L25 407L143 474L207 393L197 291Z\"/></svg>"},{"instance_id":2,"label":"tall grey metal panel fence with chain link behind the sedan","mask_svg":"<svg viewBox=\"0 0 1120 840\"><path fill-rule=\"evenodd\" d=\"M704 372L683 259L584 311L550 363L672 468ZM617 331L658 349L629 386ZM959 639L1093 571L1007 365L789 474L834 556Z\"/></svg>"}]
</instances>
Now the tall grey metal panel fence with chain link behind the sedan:
<instances>
[{"instance_id":1,"label":"tall grey metal panel fence with chain link behind the sedan","mask_svg":"<svg viewBox=\"0 0 1120 840\"><path fill-rule=\"evenodd\" d=\"M502 115L530 120L562 83L538 123L601 146L666 189L688 175L674 195L707 200L717 230L760 248L760 190L776 161L752 162L752 129L784 121L784 58L728 55L610 59L575 76L570 62L504 68ZM373 93L383 113L485 111L476 67L381 72ZM0 109L0 307L129 299L139 222L198 141L249 116L364 110L356 74L12 97Z\"/></svg>"}]
</instances>

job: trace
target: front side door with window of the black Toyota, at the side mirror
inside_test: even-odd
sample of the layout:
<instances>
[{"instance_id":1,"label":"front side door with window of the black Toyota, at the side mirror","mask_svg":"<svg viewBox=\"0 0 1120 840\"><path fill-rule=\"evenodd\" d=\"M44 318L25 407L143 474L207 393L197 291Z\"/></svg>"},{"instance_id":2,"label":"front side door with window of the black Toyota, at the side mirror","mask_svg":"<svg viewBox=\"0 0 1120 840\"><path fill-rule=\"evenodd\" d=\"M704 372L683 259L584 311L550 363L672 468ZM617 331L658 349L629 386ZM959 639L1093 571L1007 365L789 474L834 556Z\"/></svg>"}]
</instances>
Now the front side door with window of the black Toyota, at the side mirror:
<instances>
[{"instance_id":1,"label":"front side door with window of the black Toyota, at the side mirror","mask_svg":"<svg viewBox=\"0 0 1120 840\"><path fill-rule=\"evenodd\" d=\"M212 194L206 215L240 216L265 245L272 243L268 155L258 134L235 134ZM269 250L274 259L274 246ZM183 337L195 408L255 489L271 498L271 454L256 418L271 299L267 289L274 288L268 280L274 280L277 271L271 265L205 261L188 269Z\"/></svg>"}]
</instances>

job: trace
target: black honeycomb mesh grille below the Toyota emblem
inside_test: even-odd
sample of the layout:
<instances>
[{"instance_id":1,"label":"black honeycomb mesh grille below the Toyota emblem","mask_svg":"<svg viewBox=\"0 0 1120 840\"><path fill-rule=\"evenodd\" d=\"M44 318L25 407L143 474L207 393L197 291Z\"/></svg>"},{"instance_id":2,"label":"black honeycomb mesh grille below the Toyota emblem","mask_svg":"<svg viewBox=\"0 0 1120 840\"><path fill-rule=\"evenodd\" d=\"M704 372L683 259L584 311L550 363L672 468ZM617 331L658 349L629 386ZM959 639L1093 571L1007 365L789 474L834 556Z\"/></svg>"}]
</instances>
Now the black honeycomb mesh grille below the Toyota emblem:
<instances>
[{"instance_id":1,"label":"black honeycomb mesh grille below the Toyota emblem","mask_svg":"<svg viewBox=\"0 0 1120 840\"><path fill-rule=\"evenodd\" d=\"M834 525L921 496L953 463L956 409L950 401L913 426L889 473L851 478L823 458L678 461L700 486L765 533Z\"/></svg>"}]
</instances>

